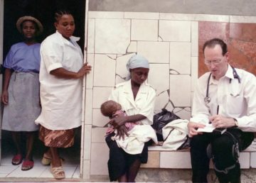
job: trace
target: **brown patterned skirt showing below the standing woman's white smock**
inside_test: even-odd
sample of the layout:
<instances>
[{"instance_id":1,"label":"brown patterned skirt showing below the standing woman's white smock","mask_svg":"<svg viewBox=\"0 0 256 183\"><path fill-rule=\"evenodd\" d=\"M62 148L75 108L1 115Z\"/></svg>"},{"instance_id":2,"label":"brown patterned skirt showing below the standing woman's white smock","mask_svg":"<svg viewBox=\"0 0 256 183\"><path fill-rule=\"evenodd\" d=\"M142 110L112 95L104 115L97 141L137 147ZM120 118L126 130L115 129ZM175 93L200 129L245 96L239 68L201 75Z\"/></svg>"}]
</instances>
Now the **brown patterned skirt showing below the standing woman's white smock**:
<instances>
[{"instance_id":1,"label":"brown patterned skirt showing below the standing woman's white smock","mask_svg":"<svg viewBox=\"0 0 256 183\"><path fill-rule=\"evenodd\" d=\"M74 145L75 129L52 131L43 126L39 129L39 139L46 147L69 148Z\"/></svg>"}]
</instances>

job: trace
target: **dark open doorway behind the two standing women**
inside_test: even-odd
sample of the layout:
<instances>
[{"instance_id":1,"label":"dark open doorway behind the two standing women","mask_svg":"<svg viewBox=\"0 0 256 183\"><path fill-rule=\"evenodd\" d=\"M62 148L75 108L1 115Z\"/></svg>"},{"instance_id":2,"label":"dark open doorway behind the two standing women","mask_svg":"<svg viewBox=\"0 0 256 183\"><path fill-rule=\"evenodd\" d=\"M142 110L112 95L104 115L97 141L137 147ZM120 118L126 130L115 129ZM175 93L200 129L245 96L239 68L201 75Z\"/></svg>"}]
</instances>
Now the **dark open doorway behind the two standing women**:
<instances>
[{"instance_id":1,"label":"dark open doorway behind the two standing women","mask_svg":"<svg viewBox=\"0 0 256 183\"><path fill-rule=\"evenodd\" d=\"M39 43L44 40L48 35L55 33L54 23L54 13L56 10L65 9L69 10L75 18L75 36L80 37L78 44L80 48L84 50L85 45L85 0L1 0L4 1L4 31L0 32L3 36L3 55L1 59L4 62L4 58L9 52L11 45L21 42L22 37L18 30L16 29L16 21L21 16L33 16L38 18L39 21L43 24L43 34L38 39ZM3 109L3 106L2 106ZM60 150L60 155L65 159L64 160L64 169L65 166L75 167L77 172L77 177L79 178L80 172L80 142L81 142L81 128L78 128L75 135L75 144L72 148ZM11 134L8 131L1 131L1 166L11 165L11 158L14 155L14 145L12 145ZM44 170L42 167L41 170L45 173L33 172L37 165L41 165L41 157L43 155L44 147L43 143L40 140L36 140L34 143L34 152L33 159L35 162L34 168L32 170L26 171L30 175L19 174L21 177L51 177L51 174L47 173L48 171ZM17 174L15 171L19 171L20 168L11 165L16 168L12 170L13 172L9 173L9 177ZM71 170L68 170L71 171ZM12 175L13 174L13 175ZM66 174L66 177L73 178L75 172L70 172ZM16 177L16 176L14 176Z\"/></svg>"}]
</instances>

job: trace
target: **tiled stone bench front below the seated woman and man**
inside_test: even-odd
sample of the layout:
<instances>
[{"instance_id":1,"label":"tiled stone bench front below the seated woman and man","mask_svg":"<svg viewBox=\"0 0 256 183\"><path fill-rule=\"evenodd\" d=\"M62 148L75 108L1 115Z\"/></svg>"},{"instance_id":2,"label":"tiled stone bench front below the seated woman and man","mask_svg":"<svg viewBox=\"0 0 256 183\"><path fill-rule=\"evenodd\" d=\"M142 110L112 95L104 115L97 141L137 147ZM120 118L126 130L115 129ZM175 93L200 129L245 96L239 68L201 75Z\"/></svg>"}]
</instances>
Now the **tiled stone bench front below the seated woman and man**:
<instances>
[{"instance_id":1,"label":"tiled stone bench front below the seated woman and man","mask_svg":"<svg viewBox=\"0 0 256 183\"><path fill-rule=\"evenodd\" d=\"M242 169L256 168L256 139L239 157ZM188 149L168 150L161 146L149 146L149 159L142 168L191 169L191 157ZM210 165L213 167L213 165Z\"/></svg>"}]
</instances>

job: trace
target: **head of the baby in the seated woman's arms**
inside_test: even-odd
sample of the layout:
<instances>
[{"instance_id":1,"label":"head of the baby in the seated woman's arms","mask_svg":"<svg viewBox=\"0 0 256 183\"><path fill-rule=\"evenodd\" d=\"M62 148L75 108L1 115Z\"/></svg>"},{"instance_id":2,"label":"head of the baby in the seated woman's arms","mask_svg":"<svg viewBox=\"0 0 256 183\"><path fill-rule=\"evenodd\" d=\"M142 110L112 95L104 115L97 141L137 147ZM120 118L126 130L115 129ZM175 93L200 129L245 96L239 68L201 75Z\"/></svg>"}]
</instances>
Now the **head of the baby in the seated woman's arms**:
<instances>
[{"instance_id":1,"label":"head of the baby in the seated woman's arms","mask_svg":"<svg viewBox=\"0 0 256 183\"><path fill-rule=\"evenodd\" d=\"M118 104L115 101L105 101L101 106L100 106L100 111L102 112L103 116L107 116L109 118L112 118L113 114L117 111L122 109L122 106Z\"/></svg>"}]
</instances>

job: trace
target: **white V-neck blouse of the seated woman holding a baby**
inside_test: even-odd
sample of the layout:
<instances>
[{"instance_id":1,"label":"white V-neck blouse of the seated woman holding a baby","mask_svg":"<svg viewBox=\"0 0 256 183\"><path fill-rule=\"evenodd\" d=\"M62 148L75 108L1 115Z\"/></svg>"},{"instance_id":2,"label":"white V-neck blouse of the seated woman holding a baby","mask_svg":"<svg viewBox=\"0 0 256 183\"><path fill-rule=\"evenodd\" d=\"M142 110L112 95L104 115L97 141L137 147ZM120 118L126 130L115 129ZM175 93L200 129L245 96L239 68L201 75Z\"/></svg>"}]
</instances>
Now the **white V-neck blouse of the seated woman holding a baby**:
<instances>
[{"instance_id":1,"label":"white V-neck blouse of the seated woman holding a baby","mask_svg":"<svg viewBox=\"0 0 256 183\"><path fill-rule=\"evenodd\" d=\"M129 81L122 82L114 87L109 100L121 104L122 110L127 113L127 116L142 114L143 116L146 116L146 118L140 121L140 123L152 125L155 96L156 91L154 88L144 82L139 87L138 94L134 100L131 79L129 79Z\"/></svg>"}]
</instances>

